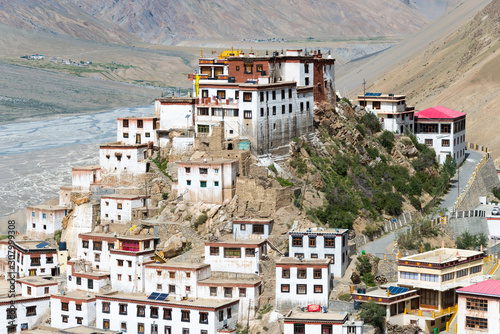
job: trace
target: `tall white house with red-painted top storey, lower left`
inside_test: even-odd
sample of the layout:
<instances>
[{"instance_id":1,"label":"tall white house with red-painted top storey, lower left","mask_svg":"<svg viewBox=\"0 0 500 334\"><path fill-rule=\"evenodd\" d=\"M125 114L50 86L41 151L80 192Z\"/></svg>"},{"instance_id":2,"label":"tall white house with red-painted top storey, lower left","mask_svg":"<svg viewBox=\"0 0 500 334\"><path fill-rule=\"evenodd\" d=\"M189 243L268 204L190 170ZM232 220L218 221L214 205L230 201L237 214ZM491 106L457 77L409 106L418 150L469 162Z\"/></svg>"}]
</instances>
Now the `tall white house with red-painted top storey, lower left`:
<instances>
[{"instance_id":1,"label":"tall white house with red-painted top storey, lower left","mask_svg":"<svg viewBox=\"0 0 500 334\"><path fill-rule=\"evenodd\" d=\"M123 292L144 292L145 264L153 262L160 239L151 235L117 237L111 253L111 286Z\"/></svg>"}]
</instances>

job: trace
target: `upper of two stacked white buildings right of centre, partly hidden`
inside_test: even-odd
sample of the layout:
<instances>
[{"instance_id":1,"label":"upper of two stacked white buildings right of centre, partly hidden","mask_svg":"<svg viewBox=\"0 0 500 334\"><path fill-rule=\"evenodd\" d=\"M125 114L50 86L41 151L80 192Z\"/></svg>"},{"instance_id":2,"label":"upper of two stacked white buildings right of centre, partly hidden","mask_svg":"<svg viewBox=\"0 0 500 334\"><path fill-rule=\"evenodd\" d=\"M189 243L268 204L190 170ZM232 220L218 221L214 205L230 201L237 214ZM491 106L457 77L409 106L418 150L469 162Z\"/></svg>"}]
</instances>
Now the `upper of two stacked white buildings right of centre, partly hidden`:
<instances>
[{"instance_id":1,"label":"upper of two stacked white buildings right of centre, partly hidden","mask_svg":"<svg viewBox=\"0 0 500 334\"><path fill-rule=\"evenodd\" d=\"M302 259L330 259L334 278L344 276L349 264L346 229L304 229L288 233L290 256Z\"/></svg>"}]
</instances>

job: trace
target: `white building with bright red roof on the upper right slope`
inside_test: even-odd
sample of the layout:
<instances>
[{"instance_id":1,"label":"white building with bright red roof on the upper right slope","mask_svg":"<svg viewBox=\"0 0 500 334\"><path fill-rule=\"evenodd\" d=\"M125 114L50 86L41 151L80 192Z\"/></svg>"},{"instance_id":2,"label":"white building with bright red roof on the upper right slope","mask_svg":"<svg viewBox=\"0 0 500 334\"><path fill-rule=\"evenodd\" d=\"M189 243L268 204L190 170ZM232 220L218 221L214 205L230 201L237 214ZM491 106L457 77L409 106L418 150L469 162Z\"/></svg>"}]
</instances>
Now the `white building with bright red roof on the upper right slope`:
<instances>
[{"instance_id":1,"label":"white building with bright red roof on the upper right slope","mask_svg":"<svg viewBox=\"0 0 500 334\"><path fill-rule=\"evenodd\" d=\"M441 106L415 113L417 140L436 151L439 163L452 157L460 165L465 159L465 116Z\"/></svg>"}]
</instances>

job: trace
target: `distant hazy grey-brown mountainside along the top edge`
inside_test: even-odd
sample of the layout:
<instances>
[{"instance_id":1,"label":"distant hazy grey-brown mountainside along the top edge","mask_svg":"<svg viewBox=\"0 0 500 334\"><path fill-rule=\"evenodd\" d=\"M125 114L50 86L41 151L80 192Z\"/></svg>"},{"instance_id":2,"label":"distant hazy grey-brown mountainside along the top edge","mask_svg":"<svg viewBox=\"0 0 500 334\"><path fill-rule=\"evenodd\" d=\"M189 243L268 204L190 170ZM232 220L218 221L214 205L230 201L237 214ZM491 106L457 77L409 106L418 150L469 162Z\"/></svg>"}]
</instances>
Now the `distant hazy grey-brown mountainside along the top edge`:
<instances>
[{"instance_id":1,"label":"distant hazy grey-brown mountainside along the top edge","mask_svg":"<svg viewBox=\"0 0 500 334\"><path fill-rule=\"evenodd\" d=\"M366 37L410 34L458 0L0 0L0 22L98 41Z\"/></svg>"}]
</instances>

